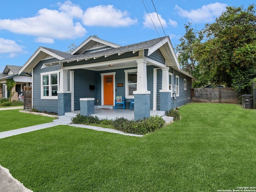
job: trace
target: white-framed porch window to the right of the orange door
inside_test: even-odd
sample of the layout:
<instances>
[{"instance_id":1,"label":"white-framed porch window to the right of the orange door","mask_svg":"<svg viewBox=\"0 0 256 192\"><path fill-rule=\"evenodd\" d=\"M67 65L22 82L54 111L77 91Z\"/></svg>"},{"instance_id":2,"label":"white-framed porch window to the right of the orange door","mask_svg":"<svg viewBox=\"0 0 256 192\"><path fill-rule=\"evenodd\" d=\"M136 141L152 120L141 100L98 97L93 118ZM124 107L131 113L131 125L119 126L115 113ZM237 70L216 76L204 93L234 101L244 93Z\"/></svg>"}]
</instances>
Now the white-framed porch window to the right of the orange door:
<instances>
[{"instance_id":1,"label":"white-framed porch window to the right of the orange door","mask_svg":"<svg viewBox=\"0 0 256 192\"><path fill-rule=\"evenodd\" d=\"M133 92L137 90L137 69L124 70L125 73L125 98L133 99Z\"/></svg>"}]
</instances>

